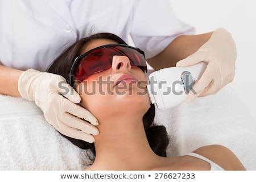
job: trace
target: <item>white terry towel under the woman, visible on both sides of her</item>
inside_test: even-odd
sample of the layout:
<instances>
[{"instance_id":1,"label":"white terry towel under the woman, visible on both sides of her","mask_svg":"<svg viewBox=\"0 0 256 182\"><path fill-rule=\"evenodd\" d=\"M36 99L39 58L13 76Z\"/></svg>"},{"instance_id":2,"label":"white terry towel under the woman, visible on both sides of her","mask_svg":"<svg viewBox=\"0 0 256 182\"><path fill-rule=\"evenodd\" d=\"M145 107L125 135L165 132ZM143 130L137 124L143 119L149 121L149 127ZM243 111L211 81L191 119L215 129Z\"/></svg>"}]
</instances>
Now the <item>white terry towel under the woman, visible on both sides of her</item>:
<instances>
[{"instance_id":1,"label":"white terry towel under the woman, visible on both sides of her","mask_svg":"<svg viewBox=\"0 0 256 182\"><path fill-rule=\"evenodd\" d=\"M237 94L226 86L169 110L156 110L156 122L170 134L168 156L200 146L229 147L248 170L256 170L256 122ZM0 170L82 170L86 151L49 125L34 102L0 95Z\"/></svg>"}]
</instances>

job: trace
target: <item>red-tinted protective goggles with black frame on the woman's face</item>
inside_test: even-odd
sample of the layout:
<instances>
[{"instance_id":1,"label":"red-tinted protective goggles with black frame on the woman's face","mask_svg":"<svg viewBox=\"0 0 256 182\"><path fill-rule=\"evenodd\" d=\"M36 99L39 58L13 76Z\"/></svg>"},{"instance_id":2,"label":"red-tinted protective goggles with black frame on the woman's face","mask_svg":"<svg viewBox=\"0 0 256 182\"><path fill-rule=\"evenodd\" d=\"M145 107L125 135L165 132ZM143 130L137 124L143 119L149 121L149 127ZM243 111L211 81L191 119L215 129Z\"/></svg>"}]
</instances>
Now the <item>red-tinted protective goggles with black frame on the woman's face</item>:
<instances>
[{"instance_id":1,"label":"red-tinted protective goggles with black frame on the woman's face","mask_svg":"<svg viewBox=\"0 0 256 182\"><path fill-rule=\"evenodd\" d=\"M115 55L128 57L132 66L137 66L143 72L147 72L146 59L141 49L125 44L108 44L76 57L69 72L69 84L73 86L74 80L82 82L94 73L111 68L112 58Z\"/></svg>"}]
</instances>

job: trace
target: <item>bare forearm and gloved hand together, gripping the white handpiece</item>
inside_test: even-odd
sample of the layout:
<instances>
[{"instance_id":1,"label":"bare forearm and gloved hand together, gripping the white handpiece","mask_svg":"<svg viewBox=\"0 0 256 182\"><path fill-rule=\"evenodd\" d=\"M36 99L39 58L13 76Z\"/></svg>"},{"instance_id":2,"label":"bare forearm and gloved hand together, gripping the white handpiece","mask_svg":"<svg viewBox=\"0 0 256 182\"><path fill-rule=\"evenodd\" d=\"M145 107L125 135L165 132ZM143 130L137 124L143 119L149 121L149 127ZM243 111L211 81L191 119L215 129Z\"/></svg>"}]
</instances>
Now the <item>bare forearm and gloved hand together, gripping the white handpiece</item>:
<instances>
[{"instance_id":1,"label":"bare forearm and gloved hand together, gripping the white handpiece","mask_svg":"<svg viewBox=\"0 0 256 182\"><path fill-rule=\"evenodd\" d=\"M148 60L156 70L166 67L188 67L201 61L208 63L201 78L193 86L186 100L217 93L233 81L237 49L232 35L224 28L201 35L182 35L159 55ZM177 62L178 61L178 62Z\"/></svg>"}]
</instances>

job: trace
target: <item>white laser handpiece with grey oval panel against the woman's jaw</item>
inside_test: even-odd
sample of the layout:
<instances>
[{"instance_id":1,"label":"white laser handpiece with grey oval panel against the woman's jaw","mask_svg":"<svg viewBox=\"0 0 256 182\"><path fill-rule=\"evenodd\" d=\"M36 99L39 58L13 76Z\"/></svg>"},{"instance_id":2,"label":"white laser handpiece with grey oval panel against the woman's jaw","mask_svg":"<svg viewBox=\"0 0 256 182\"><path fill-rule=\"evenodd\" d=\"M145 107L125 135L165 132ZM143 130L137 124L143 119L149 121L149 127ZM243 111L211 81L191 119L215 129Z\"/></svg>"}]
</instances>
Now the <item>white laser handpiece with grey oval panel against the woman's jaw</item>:
<instances>
[{"instance_id":1,"label":"white laser handpiece with grey oval panel against the woman's jaw","mask_svg":"<svg viewBox=\"0 0 256 182\"><path fill-rule=\"evenodd\" d=\"M151 103L159 110L181 104L206 67L207 63L200 62L190 67L171 67L152 72L147 84ZM195 92L193 89L191 91Z\"/></svg>"}]
</instances>

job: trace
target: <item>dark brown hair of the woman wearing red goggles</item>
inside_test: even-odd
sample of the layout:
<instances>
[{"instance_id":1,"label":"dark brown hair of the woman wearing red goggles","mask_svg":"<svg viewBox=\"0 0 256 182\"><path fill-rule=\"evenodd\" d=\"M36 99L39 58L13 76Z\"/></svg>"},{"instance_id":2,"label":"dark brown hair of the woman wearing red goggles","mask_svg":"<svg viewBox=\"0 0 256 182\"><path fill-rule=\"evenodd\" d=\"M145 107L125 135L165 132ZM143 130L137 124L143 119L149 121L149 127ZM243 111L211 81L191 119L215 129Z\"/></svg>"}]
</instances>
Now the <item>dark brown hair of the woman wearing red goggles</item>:
<instances>
[{"instance_id":1,"label":"dark brown hair of the woman wearing red goggles","mask_svg":"<svg viewBox=\"0 0 256 182\"><path fill-rule=\"evenodd\" d=\"M57 57L53 61L53 63L50 65L50 67L48 68L48 72L61 75L66 80L68 80L69 71L72 67L73 61L77 56L81 54L82 48L86 44L88 44L90 41L95 39L109 39L109 40L114 40L118 44L126 44L117 35L110 34L110 33L99 33L99 34L88 36L86 38L83 38L77 41L71 47L67 48L63 53L61 53L61 55ZM150 109L148 109L146 114L144 114L143 116L144 130L146 132L148 143L150 144L155 154L159 156L166 156L166 148L169 143L166 127L155 125L154 118L155 118L155 106L154 104L151 104ZM67 137L65 135L63 135L63 137L67 138L73 144L75 144L76 146L82 149L90 149L93 152L94 156L96 155L94 143L88 143L83 140Z\"/></svg>"}]
</instances>

